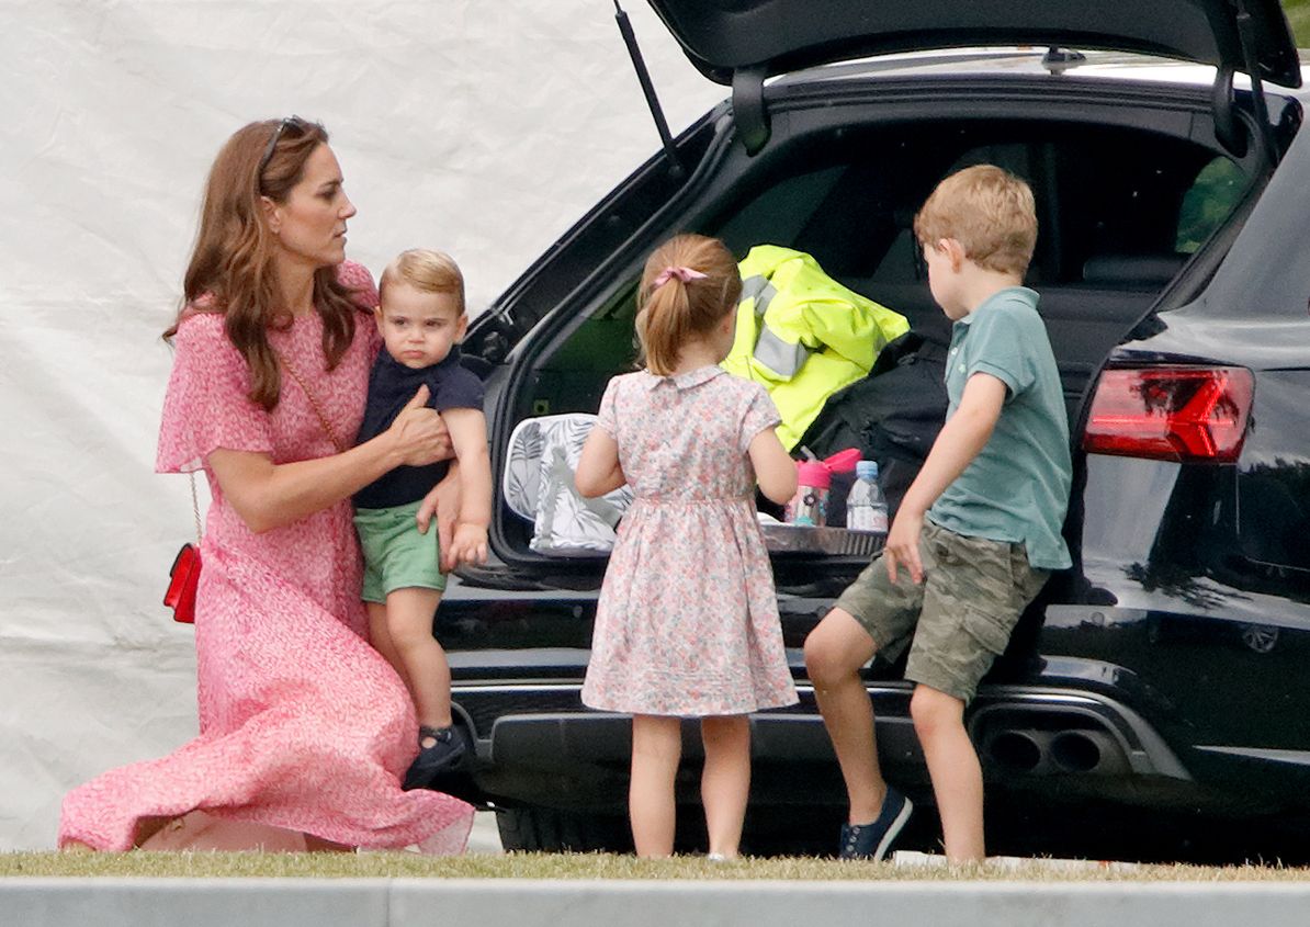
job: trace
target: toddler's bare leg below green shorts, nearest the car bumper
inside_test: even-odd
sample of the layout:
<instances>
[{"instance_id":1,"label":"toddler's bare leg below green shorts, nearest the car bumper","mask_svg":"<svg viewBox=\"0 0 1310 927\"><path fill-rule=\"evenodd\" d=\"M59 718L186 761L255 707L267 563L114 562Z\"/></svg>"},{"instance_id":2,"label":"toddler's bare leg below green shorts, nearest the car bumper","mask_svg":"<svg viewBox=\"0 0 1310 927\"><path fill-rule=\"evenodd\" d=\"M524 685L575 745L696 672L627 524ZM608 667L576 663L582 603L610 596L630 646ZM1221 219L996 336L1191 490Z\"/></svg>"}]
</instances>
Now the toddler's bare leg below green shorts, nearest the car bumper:
<instances>
[{"instance_id":1,"label":"toddler's bare leg below green shorts, nearest the car bumper","mask_svg":"<svg viewBox=\"0 0 1310 927\"><path fill-rule=\"evenodd\" d=\"M432 636L432 615L441 601L436 589L394 589L386 596L386 630L405 668L418 723L451 727L451 665ZM423 746L430 746L424 744Z\"/></svg>"}]
</instances>

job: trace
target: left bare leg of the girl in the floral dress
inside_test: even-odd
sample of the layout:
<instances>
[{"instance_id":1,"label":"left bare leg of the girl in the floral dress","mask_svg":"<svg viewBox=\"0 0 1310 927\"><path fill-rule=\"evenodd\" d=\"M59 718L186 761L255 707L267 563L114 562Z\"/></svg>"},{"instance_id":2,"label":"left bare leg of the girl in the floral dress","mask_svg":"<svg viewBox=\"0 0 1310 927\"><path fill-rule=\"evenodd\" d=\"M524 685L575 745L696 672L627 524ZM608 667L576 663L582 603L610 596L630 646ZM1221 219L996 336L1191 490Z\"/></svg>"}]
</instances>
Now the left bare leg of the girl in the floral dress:
<instances>
[{"instance_id":1,"label":"left bare leg of the girl in the floral dress","mask_svg":"<svg viewBox=\"0 0 1310 927\"><path fill-rule=\"evenodd\" d=\"M627 814L638 856L669 856L677 808L673 778L683 757L683 721L633 715L633 769Z\"/></svg>"}]
</instances>

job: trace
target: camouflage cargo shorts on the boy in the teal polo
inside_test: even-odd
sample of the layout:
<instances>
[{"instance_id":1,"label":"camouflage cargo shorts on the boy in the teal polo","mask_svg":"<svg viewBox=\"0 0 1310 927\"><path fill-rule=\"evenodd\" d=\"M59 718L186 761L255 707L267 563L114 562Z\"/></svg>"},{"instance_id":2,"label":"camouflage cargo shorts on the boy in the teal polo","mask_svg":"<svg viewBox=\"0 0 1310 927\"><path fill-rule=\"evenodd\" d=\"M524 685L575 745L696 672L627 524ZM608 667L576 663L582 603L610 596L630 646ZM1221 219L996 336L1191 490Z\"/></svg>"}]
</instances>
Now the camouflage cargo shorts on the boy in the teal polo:
<instances>
[{"instance_id":1,"label":"camouflage cargo shorts on the boy in the teal polo","mask_svg":"<svg viewBox=\"0 0 1310 927\"><path fill-rule=\"evenodd\" d=\"M884 659L910 648L907 680L968 704L1049 571L1028 566L1022 543L967 537L931 521L924 522L918 555L918 585L904 567L896 583L888 580L878 555L834 605L869 631Z\"/></svg>"}]
</instances>

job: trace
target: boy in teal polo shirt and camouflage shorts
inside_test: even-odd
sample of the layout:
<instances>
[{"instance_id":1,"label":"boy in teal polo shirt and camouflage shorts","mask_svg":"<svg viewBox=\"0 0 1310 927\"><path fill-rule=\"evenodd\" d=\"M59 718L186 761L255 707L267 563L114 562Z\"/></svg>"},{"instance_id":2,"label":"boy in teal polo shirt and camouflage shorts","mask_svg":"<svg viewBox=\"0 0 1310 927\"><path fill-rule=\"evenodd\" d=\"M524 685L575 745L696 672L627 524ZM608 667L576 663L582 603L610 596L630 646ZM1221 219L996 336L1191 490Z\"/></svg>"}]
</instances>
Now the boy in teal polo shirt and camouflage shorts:
<instances>
[{"instance_id":1,"label":"boy in teal polo shirt and camouflage shorts","mask_svg":"<svg viewBox=\"0 0 1310 927\"><path fill-rule=\"evenodd\" d=\"M954 322L946 426L887 545L806 640L806 666L850 799L842 859L882 859L912 805L887 786L859 669L909 644L910 716L946 856L982 860L982 774L964 707L1051 570L1069 566L1069 424L1038 295L1032 191L994 168L942 181L914 219L933 299ZM912 640L912 643L910 643Z\"/></svg>"}]
</instances>

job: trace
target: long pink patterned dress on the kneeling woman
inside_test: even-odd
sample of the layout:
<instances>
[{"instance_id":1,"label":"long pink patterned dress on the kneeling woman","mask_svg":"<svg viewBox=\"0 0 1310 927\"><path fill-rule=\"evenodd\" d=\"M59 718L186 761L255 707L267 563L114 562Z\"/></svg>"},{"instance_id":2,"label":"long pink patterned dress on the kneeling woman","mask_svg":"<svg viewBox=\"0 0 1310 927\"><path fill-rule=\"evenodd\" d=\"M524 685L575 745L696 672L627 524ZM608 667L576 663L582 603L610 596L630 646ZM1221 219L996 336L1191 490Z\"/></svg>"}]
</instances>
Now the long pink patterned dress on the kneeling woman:
<instances>
[{"instance_id":1,"label":"long pink patterned dress on the kneeling woman","mask_svg":"<svg viewBox=\"0 0 1310 927\"><path fill-rule=\"evenodd\" d=\"M376 305L367 270L346 264L341 276L363 306ZM342 440L351 440L379 348L371 318L359 316L355 339L331 372L324 369L318 316L271 331L270 340ZM200 735L166 757L110 770L69 792L60 843L128 850L141 818L187 816L185 822L200 812L206 824L189 825L206 831L196 846L270 846L270 833L295 831L350 846L458 852L472 807L438 792L401 791L418 725L405 685L367 640L350 500L255 534L206 466L219 448L267 454L274 464L335 453L293 378L283 377L272 412L248 390L248 367L223 317L186 318L156 469L203 467L214 494L195 614ZM232 837L237 833L250 839ZM185 835L177 843L185 845Z\"/></svg>"}]
</instances>

